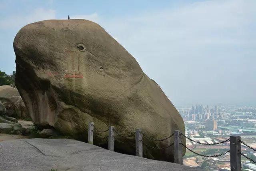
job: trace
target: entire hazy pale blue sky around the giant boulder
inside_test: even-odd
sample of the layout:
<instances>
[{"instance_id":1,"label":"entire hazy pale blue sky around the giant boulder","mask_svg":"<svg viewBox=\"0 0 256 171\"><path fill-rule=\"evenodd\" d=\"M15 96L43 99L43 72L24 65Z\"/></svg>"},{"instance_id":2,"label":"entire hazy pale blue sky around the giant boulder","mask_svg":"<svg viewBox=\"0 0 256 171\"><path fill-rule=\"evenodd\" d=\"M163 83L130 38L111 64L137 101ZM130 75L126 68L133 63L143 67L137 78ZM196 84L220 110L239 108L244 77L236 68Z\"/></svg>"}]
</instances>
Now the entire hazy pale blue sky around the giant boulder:
<instances>
[{"instance_id":1,"label":"entire hazy pale blue sky around the giant boulder","mask_svg":"<svg viewBox=\"0 0 256 171\"><path fill-rule=\"evenodd\" d=\"M174 105L256 105L256 0L0 0L0 70L26 24L86 19L138 61Z\"/></svg>"}]
</instances>

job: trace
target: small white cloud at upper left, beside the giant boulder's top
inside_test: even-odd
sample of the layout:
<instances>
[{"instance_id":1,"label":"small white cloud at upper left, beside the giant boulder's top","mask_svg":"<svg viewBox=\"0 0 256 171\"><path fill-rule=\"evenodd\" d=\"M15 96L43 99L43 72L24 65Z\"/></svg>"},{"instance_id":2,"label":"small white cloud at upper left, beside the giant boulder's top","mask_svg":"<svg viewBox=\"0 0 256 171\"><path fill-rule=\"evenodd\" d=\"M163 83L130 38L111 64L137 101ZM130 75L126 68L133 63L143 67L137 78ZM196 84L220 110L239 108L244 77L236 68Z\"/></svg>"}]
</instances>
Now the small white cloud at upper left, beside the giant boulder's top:
<instances>
[{"instance_id":1,"label":"small white cloud at upper left, beside the giant boulder's top","mask_svg":"<svg viewBox=\"0 0 256 171\"><path fill-rule=\"evenodd\" d=\"M21 28L32 22L41 20L55 19L55 10L45 10L43 8L37 8L30 14L20 16L10 16L4 20L0 20L0 29L16 29Z\"/></svg>"}]
</instances>

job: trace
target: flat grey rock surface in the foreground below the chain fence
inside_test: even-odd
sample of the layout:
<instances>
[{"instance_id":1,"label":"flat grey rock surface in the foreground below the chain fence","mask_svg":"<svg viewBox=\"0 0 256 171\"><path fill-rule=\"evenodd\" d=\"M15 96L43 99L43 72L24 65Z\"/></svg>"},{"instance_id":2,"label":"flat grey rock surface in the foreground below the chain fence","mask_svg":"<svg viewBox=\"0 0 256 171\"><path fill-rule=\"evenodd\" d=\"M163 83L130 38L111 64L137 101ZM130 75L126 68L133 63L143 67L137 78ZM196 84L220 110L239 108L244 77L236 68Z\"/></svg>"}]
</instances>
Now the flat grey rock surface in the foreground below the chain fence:
<instances>
[{"instance_id":1,"label":"flat grey rock surface in the foreground below the chain fence","mask_svg":"<svg viewBox=\"0 0 256 171\"><path fill-rule=\"evenodd\" d=\"M124 155L72 139L0 142L0 170L19 171L203 171Z\"/></svg>"}]
</instances>

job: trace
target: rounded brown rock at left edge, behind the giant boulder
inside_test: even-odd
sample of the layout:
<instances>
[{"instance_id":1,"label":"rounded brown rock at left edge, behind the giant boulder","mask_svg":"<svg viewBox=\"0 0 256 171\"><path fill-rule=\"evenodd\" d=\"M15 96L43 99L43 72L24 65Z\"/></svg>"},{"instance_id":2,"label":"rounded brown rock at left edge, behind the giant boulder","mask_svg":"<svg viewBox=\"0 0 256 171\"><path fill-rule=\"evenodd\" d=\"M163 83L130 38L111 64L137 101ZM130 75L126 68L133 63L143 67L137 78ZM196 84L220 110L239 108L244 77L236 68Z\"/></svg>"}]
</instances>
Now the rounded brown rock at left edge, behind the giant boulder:
<instances>
[{"instance_id":1,"label":"rounded brown rock at left edge, behind the giant boulder","mask_svg":"<svg viewBox=\"0 0 256 171\"><path fill-rule=\"evenodd\" d=\"M10 117L28 118L28 111L18 92L12 85L0 86L0 100L6 108L6 115Z\"/></svg>"}]
</instances>

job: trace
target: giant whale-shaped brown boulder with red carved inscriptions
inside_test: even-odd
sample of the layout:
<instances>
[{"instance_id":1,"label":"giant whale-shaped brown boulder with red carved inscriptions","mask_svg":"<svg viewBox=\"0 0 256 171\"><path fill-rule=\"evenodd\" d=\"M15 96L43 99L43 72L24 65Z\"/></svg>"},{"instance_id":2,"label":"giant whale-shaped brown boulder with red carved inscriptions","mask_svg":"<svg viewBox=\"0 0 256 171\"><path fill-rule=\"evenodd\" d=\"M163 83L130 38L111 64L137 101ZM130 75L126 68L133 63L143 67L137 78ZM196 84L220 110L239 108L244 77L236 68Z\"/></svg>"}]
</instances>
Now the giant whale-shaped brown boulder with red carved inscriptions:
<instances>
[{"instance_id":1,"label":"giant whale-shaped brown boulder with red carved inscriptions","mask_svg":"<svg viewBox=\"0 0 256 171\"><path fill-rule=\"evenodd\" d=\"M87 139L88 122L124 136L136 128L162 139L184 122L162 89L101 26L88 20L46 20L24 26L14 39L15 85L35 124ZM94 131L107 145L108 133ZM115 150L134 153L134 137L118 137ZM144 143L166 147L174 141ZM185 139L183 139L185 143ZM185 149L184 149L185 152ZM145 149L144 157L173 161L174 147Z\"/></svg>"}]
</instances>

